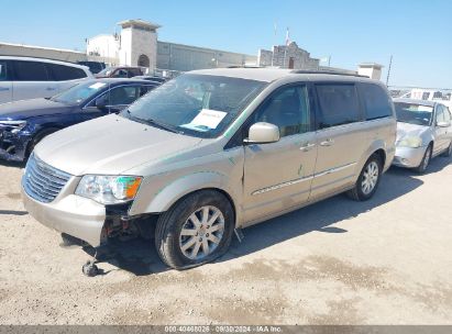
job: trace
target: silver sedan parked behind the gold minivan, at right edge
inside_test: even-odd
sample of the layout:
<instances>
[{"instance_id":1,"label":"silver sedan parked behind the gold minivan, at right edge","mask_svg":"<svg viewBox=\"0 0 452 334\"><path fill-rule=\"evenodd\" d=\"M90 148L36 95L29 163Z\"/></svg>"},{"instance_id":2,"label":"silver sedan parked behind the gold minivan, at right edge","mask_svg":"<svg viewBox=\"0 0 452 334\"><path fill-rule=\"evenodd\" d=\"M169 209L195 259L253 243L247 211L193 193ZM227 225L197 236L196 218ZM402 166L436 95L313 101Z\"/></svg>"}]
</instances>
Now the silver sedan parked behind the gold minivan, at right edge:
<instances>
[{"instance_id":1,"label":"silver sedan parked behind the gold minivan, at right edge","mask_svg":"<svg viewBox=\"0 0 452 334\"><path fill-rule=\"evenodd\" d=\"M431 158L452 155L451 112L434 101L395 99L397 143L394 165L425 172Z\"/></svg>"}]
</instances>

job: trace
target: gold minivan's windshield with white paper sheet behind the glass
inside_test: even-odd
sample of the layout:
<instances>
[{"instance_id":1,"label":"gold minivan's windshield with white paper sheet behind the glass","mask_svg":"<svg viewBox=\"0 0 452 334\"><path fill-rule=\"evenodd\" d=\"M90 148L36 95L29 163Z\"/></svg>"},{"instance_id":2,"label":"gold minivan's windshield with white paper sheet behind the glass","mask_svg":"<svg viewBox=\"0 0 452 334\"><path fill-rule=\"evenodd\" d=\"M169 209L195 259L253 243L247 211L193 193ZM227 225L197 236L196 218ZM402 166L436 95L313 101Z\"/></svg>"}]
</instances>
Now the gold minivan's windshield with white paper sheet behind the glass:
<instances>
[{"instance_id":1,"label":"gold minivan's windshield with white paper sheet behind the glass","mask_svg":"<svg viewBox=\"0 0 452 334\"><path fill-rule=\"evenodd\" d=\"M266 82L183 75L130 107L132 119L198 137L217 137L262 91Z\"/></svg>"}]
</instances>

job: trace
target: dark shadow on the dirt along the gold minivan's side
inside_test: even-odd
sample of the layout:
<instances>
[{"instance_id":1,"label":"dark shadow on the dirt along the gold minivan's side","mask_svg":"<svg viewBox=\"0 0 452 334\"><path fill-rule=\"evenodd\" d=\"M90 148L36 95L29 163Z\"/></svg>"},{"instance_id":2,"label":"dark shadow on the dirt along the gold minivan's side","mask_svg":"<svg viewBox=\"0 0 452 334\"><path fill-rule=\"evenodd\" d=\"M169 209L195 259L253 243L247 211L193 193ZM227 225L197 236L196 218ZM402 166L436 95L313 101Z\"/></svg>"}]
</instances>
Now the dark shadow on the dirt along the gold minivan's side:
<instances>
[{"instance_id":1,"label":"dark shadow on the dirt along the gold minivan's side","mask_svg":"<svg viewBox=\"0 0 452 334\"><path fill-rule=\"evenodd\" d=\"M366 202L355 202L344 194L339 194L247 227L243 230L244 241L239 243L234 240L230 252L220 258L219 261L258 252L312 231L346 233L346 230L330 225L355 218L417 189L423 181L414 178L410 176L410 172L412 171L389 169L382 178L375 196Z\"/></svg>"}]
</instances>

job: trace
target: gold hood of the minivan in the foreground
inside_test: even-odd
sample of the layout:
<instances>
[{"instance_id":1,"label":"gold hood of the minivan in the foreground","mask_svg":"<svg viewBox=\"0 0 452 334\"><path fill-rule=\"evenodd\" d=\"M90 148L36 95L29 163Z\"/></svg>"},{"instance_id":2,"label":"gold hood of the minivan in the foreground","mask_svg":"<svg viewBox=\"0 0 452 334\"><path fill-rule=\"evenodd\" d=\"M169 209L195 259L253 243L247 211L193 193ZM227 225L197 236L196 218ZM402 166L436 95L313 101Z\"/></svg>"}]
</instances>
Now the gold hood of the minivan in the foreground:
<instances>
[{"instance_id":1,"label":"gold hood of the minivan in the foreground","mask_svg":"<svg viewBox=\"0 0 452 334\"><path fill-rule=\"evenodd\" d=\"M119 175L192 148L200 142L200 138L108 115L45 137L34 153L46 164L71 175Z\"/></svg>"}]
</instances>

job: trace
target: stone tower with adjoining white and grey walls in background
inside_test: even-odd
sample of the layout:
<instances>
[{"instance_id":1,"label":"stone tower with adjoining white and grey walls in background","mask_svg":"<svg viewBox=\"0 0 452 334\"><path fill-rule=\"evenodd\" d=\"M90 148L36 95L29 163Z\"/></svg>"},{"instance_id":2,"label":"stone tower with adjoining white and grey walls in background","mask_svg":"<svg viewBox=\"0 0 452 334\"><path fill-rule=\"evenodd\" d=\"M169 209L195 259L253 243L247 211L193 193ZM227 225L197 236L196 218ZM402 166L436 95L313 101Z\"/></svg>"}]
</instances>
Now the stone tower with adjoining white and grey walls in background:
<instances>
[{"instance_id":1,"label":"stone tower with adjoining white and grey walls in background","mask_svg":"<svg viewBox=\"0 0 452 334\"><path fill-rule=\"evenodd\" d=\"M158 24L143 20L120 22L121 32L87 40L87 55L111 65L185 71L200 68L256 65L257 57L240 53L157 41Z\"/></svg>"}]
</instances>

